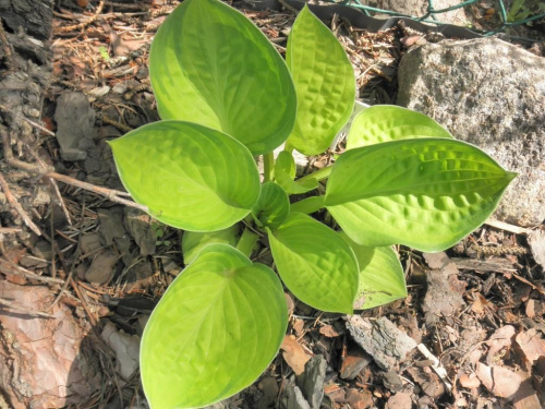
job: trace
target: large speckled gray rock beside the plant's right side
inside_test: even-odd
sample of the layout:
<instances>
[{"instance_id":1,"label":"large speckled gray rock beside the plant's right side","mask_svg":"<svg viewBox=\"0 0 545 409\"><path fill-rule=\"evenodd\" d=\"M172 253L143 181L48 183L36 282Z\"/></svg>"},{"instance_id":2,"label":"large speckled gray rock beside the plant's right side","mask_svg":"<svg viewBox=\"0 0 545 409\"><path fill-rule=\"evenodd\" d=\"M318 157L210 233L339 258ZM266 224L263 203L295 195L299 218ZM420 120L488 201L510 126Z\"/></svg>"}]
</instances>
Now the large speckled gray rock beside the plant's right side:
<instances>
[{"instance_id":1,"label":"large speckled gray rock beside the plant's right side","mask_svg":"<svg viewBox=\"0 0 545 409\"><path fill-rule=\"evenodd\" d=\"M426 44L401 59L398 105L424 112L519 173L495 217L545 218L545 59L495 38Z\"/></svg>"}]
</instances>

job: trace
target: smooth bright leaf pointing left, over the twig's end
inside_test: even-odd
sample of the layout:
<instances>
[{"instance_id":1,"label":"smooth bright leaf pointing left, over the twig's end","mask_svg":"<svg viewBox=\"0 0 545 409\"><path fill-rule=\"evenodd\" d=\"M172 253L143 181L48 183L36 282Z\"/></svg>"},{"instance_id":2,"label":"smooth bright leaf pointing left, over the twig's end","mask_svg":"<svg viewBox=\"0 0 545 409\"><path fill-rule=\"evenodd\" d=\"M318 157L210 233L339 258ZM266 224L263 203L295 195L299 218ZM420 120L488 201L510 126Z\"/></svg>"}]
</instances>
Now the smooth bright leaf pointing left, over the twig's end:
<instances>
[{"instance_id":1,"label":"smooth bright leaf pointing left, over the twig's end","mask_svg":"<svg viewBox=\"0 0 545 409\"><path fill-rule=\"evenodd\" d=\"M219 131L160 121L131 131L110 146L128 192L167 225L221 230L244 218L259 196L252 154Z\"/></svg>"}]
</instances>

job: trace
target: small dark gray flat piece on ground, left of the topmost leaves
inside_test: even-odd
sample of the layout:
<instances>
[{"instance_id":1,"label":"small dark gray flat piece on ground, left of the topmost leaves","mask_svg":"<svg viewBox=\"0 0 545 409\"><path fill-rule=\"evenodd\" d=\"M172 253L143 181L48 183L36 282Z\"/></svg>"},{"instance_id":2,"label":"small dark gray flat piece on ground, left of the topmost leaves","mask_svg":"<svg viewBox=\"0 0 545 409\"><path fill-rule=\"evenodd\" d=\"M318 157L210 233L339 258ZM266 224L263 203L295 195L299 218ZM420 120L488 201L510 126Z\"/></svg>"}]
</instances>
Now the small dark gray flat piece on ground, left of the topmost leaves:
<instances>
[{"instance_id":1,"label":"small dark gray flat piece on ground, left of the topmost leaves","mask_svg":"<svg viewBox=\"0 0 545 409\"><path fill-rule=\"evenodd\" d=\"M57 141L64 160L84 160L95 145L95 111L82 93L68 92L57 99Z\"/></svg>"}]
</instances>

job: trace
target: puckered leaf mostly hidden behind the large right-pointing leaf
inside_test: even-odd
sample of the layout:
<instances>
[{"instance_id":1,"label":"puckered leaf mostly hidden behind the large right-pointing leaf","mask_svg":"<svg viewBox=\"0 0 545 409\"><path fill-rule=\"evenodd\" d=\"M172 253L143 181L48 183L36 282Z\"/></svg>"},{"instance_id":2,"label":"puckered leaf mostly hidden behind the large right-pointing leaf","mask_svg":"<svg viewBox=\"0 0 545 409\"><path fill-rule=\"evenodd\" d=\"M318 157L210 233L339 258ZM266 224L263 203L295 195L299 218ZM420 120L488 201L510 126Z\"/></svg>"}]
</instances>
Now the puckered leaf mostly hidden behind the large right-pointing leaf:
<instances>
[{"instance_id":1,"label":"puckered leaf mostly hidden behind the large right-pointing leaf","mask_svg":"<svg viewBox=\"0 0 545 409\"><path fill-rule=\"evenodd\" d=\"M347 136L347 149L383 142L452 135L432 118L395 105L375 105L354 118Z\"/></svg>"}]
</instances>

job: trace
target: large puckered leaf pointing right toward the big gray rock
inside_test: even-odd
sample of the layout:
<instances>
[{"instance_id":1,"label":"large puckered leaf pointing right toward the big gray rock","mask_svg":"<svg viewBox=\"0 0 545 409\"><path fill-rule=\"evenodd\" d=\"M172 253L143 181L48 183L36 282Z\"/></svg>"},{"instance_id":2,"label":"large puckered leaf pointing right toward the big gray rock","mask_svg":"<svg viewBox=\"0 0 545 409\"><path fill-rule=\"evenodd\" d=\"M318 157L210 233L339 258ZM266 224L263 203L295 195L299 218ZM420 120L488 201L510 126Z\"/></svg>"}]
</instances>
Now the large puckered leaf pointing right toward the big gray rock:
<instances>
[{"instance_id":1,"label":"large puckered leaf pointing right toward the big gray rock","mask_svg":"<svg viewBox=\"0 0 545 409\"><path fill-rule=\"evenodd\" d=\"M514 177L463 142L393 141L342 154L325 205L361 245L441 251L486 220Z\"/></svg>"}]
</instances>

